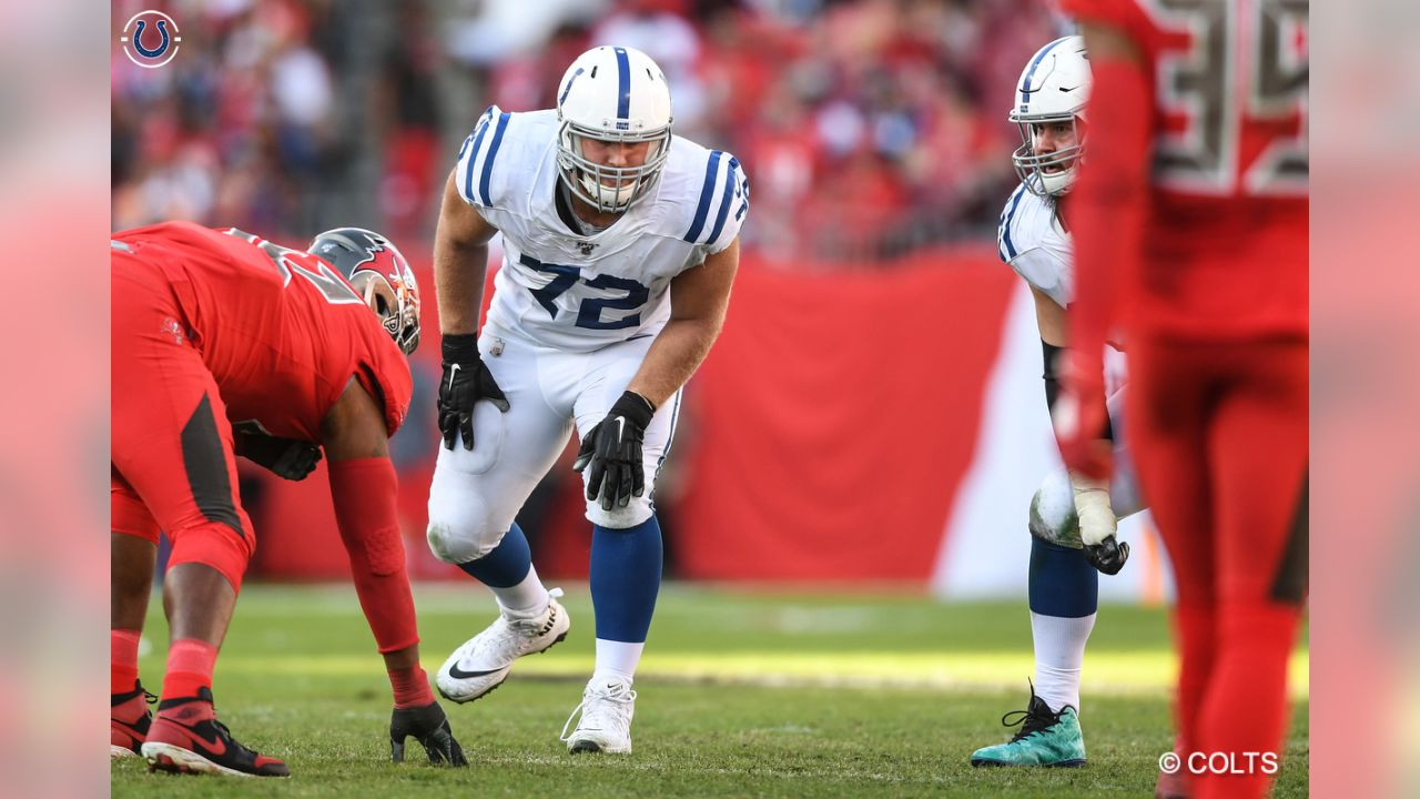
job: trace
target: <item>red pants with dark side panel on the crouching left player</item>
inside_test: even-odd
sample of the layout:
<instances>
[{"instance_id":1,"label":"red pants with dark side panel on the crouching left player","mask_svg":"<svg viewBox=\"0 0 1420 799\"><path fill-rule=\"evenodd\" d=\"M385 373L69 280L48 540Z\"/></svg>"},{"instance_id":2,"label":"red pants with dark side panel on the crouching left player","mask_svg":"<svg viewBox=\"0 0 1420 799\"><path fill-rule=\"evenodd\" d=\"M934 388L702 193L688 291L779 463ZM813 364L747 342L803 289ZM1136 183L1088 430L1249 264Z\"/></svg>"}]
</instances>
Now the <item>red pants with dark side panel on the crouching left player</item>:
<instances>
[{"instance_id":1,"label":"red pants with dark side panel on the crouching left player","mask_svg":"<svg viewBox=\"0 0 1420 799\"><path fill-rule=\"evenodd\" d=\"M231 424L163 273L114 252L111 526L204 563L233 589L256 552Z\"/></svg>"}]
</instances>

